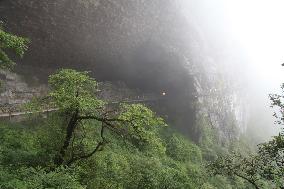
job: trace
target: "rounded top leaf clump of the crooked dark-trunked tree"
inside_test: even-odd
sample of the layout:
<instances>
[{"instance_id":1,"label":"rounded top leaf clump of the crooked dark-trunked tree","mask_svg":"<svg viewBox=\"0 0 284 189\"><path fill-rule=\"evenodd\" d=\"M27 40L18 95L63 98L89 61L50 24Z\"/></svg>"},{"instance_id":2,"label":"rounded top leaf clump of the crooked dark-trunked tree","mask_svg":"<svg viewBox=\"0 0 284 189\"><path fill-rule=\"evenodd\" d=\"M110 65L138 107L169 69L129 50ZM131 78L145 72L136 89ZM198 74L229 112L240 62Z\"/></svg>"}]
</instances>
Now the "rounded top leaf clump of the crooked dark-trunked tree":
<instances>
[{"instance_id":1,"label":"rounded top leaf clump of the crooked dark-trunked tree","mask_svg":"<svg viewBox=\"0 0 284 189\"><path fill-rule=\"evenodd\" d=\"M83 113L93 113L102 108L103 101L96 98L97 82L88 72L63 69L48 79L51 103L61 111L79 109Z\"/></svg>"}]
</instances>

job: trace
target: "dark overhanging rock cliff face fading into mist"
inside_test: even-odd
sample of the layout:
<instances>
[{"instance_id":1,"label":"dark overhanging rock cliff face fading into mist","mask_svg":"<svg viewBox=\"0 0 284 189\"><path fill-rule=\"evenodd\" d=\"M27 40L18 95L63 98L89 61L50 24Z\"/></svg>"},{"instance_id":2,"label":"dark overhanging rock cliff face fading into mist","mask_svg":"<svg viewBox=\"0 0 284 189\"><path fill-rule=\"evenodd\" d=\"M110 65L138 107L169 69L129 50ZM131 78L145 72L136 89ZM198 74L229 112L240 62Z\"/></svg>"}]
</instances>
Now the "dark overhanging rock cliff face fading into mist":
<instances>
[{"instance_id":1,"label":"dark overhanging rock cliff face fading into mist","mask_svg":"<svg viewBox=\"0 0 284 189\"><path fill-rule=\"evenodd\" d=\"M72 67L142 93L159 96L165 91L157 111L194 136L197 112L209 111L197 111L196 100L205 102L207 96L210 103L220 102L209 95L220 88L210 75L223 72L218 70L220 58L212 53L220 49L194 13L197 4L187 1L186 9L181 0L2 0L0 10L9 31L32 41L18 73L45 82L55 69Z\"/></svg>"}]
</instances>

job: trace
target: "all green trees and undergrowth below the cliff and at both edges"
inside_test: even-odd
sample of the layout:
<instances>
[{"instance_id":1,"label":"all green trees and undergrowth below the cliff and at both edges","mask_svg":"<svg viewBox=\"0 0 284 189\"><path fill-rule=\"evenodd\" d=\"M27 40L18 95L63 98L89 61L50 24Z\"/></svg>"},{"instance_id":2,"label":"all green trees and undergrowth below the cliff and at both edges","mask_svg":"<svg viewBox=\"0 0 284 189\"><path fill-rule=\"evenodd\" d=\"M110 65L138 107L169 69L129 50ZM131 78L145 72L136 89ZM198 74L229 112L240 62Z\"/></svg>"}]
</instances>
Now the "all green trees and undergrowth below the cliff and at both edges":
<instances>
[{"instance_id":1,"label":"all green trees and undergrowth below the cliff and at both edges","mask_svg":"<svg viewBox=\"0 0 284 189\"><path fill-rule=\"evenodd\" d=\"M4 50L22 56L27 43L0 28L0 68L14 65ZM98 98L88 72L62 69L48 82L49 93L25 106L34 114L0 122L0 188L283 188L282 133L250 155L241 137L220 141L199 115L194 143L143 104ZM283 95L271 100L283 110Z\"/></svg>"}]
</instances>

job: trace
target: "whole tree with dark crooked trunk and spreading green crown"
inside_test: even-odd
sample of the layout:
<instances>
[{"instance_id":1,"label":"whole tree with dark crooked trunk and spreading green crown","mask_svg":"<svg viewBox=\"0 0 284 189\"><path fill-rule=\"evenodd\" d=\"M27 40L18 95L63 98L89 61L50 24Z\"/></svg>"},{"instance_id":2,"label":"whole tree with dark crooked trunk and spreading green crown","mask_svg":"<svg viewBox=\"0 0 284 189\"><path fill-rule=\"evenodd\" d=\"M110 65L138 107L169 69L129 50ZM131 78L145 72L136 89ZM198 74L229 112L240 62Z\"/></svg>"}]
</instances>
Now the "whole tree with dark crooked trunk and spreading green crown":
<instances>
[{"instance_id":1,"label":"whole tree with dark crooked trunk and spreading green crown","mask_svg":"<svg viewBox=\"0 0 284 189\"><path fill-rule=\"evenodd\" d=\"M165 126L150 109L141 104L115 104L99 99L98 83L88 75L88 72L78 72L62 69L49 77L49 94L36 99L28 107L37 110L48 107L55 108L66 120L63 144L54 158L54 164L71 165L89 158L108 143L106 132L115 133L134 145L151 142L156 126ZM36 106L34 106L36 105ZM34 109L35 110L35 109ZM99 142L90 149L90 144L84 144L82 130L86 124L100 128ZM91 129L96 136L96 130Z\"/></svg>"}]
</instances>

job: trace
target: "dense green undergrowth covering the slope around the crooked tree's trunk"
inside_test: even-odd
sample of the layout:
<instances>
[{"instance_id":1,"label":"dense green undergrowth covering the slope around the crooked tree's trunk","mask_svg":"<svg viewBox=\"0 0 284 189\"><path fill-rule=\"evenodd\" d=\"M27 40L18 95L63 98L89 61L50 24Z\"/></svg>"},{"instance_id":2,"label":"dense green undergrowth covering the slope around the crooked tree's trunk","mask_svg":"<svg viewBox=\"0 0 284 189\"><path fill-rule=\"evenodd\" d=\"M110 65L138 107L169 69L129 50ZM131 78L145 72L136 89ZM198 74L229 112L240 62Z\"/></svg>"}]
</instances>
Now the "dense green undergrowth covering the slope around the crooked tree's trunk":
<instances>
[{"instance_id":1,"label":"dense green undergrowth covering the slope around the crooked tree's trunk","mask_svg":"<svg viewBox=\"0 0 284 189\"><path fill-rule=\"evenodd\" d=\"M99 138L94 122L86 122L80 135L84 148ZM231 148L218 145L217 133L201 120L203 131L194 144L170 128L155 133L149 144L137 145L106 133L107 145L94 156L69 167L54 167L52 159L63 141L63 122L47 119L0 123L0 188L250 188L250 185L207 170L209 160ZM80 137L80 136L79 136Z\"/></svg>"}]
</instances>

